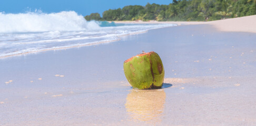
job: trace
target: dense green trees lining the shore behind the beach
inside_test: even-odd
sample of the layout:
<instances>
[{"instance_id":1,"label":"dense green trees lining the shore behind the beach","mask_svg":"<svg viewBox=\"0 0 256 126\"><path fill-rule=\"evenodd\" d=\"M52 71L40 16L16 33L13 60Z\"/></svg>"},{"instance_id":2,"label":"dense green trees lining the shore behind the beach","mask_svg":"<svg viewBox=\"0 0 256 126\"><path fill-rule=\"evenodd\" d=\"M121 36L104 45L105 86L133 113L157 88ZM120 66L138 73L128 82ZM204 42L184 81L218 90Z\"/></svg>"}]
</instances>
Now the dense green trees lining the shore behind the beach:
<instances>
[{"instance_id":1,"label":"dense green trees lining the shore behind the beach","mask_svg":"<svg viewBox=\"0 0 256 126\"><path fill-rule=\"evenodd\" d=\"M256 0L173 0L169 5L130 5L92 13L86 20L203 21L256 14Z\"/></svg>"}]
</instances>

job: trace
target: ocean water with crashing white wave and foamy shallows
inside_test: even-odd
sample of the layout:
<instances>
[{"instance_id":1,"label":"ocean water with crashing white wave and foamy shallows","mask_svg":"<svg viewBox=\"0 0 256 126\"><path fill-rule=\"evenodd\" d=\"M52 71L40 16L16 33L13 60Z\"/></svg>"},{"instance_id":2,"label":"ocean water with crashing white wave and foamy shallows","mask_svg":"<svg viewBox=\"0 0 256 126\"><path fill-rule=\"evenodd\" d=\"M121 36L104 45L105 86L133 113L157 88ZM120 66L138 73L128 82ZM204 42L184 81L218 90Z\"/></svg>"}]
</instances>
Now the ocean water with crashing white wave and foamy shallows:
<instances>
[{"instance_id":1,"label":"ocean water with crashing white wave and foamy shallows","mask_svg":"<svg viewBox=\"0 0 256 126\"><path fill-rule=\"evenodd\" d=\"M115 24L86 21L74 11L0 13L0 58L79 46L111 43L120 36L174 24Z\"/></svg>"}]
</instances>

